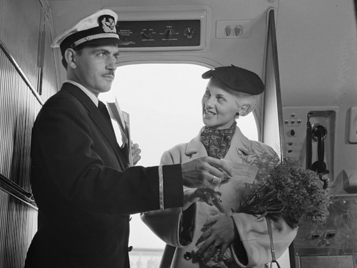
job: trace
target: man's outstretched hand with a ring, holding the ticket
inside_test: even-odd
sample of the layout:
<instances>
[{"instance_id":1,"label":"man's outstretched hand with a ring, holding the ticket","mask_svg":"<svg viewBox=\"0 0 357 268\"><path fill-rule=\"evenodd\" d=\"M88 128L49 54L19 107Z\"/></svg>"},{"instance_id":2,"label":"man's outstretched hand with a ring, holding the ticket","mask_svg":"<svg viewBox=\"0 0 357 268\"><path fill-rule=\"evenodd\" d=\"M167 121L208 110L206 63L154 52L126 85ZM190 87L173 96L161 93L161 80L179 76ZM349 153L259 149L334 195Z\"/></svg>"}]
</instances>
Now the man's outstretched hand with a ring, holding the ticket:
<instances>
[{"instance_id":1,"label":"man's outstretched hand with a ring, holding the ticket","mask_svg":"<svg viewBox=\"0 0 357 268\"><path fill-rule=\"evenodd\" d=\"M230 165L219 159L204 156L181 164L183 184L190 188L215 188L225 174L233 176Z\"/></svg>"}]
</instances>

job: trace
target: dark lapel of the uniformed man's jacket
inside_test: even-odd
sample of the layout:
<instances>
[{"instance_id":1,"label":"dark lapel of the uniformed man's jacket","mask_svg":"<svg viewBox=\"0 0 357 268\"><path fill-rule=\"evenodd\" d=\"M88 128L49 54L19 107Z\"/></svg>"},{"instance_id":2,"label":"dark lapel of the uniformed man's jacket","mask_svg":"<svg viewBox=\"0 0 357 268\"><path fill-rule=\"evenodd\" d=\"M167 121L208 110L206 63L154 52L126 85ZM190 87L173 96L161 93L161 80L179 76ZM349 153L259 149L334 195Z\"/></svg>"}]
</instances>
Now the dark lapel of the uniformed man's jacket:
<instances>
[{"instance_id":1,"label":"dark lapel of the uniformed man's jacket","mask_svg":"<svg viewBox=\"0 0 357 268\"><path fill-rule=\"evenodd\" d=\"M120 166L122 170L124 170L126 168L126 160L124 159L121 153L119 144L115 137L114 130L109 124L106 123L106 120L103 119L103 115L101 114L100 110L95 106L93 101L85 92L83 92L82 89L71 83L64 83L62 85L61 90L67 91L68 93L72 94L88 110L88 114L94 121L95 125L103 133L103 135L107 138L107 140L113 147Z\"/></svg>"}]
</instances>

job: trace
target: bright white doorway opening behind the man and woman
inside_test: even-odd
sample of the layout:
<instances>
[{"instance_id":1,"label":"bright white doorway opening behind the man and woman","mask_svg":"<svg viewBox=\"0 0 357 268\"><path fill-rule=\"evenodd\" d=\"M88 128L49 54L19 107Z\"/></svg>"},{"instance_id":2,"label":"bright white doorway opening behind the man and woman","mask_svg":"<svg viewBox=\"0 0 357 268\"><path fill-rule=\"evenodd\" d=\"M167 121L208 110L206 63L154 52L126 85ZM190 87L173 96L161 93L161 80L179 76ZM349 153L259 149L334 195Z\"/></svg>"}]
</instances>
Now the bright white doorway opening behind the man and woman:
<instances>
[{"instance_id":1,"label":"bright white doorway opening behind the man and woman","mask_svg":"<svg viewBox=\"0 0 357 268\"><path fill-rule=\"evenodd\" d=\"M113 102L116 98L121 110L130 114L131 137L142 150L138 165L159 165L164 151L198 134L203 126L201 98L208 82L201 75L207 70L193 64L117 68L111 91L100 94L99 99ZM237 124L248 138L258 140L252 113L240 117ZM119 128L113 125L119 137ZM141 222L139 214L132 216L130 224L132 268L158 267L165 243Z\"/></svg>"}]
</instances>

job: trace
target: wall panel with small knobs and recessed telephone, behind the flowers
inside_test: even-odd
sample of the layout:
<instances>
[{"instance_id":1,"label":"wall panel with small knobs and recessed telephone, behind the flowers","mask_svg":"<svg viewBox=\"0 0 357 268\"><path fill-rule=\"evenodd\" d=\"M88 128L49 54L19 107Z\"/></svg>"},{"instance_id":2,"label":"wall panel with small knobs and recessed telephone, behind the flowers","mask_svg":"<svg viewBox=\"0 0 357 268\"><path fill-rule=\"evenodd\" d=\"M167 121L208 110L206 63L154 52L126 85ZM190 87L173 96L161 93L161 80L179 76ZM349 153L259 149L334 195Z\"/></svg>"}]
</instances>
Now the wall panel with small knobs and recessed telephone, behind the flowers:
<instances>
[{"instance_id":1,"label":"wall panel with small knobs and recessed telephone, behind the flowers","mask_svg":"<svg viewBox=\"0 0 357 268\"><path fill-rule=\"evenodd\" d=\"M325 167L323 173L328 176L330 185L333 184L336 169L334 153L337 150L338 112L338 107L283 108L284 157L297 159L303 168L313 170L318 166L318 172L321 172L322 166Z\"/></svg>"}]
</instances>

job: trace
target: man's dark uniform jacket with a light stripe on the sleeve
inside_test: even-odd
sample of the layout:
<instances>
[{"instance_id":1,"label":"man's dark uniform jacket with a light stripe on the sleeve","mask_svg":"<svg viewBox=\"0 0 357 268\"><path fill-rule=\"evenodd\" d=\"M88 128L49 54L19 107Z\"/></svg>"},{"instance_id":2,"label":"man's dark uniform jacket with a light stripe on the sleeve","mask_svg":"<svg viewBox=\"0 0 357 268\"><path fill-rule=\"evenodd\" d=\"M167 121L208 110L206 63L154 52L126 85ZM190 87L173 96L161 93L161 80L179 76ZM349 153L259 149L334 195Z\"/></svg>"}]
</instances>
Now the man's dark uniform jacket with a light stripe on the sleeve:
<instances>
[{"instance_id":1,"label":"man's dark uniform jacket with a light stripe on the sleeve","mask_svg":"<svg viewBox=\"0 0 357 268\"><path fill-rule=\"evenodd\" d=\"M161 194L159 167L125 169L109 120L70 83L39 112L31 158L39 225L26 268L129 267L130 214L159 209L160 197L182 206L181 166L162 167Z\"/></svg>"}]
</instances>

